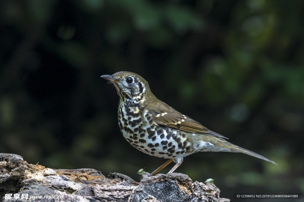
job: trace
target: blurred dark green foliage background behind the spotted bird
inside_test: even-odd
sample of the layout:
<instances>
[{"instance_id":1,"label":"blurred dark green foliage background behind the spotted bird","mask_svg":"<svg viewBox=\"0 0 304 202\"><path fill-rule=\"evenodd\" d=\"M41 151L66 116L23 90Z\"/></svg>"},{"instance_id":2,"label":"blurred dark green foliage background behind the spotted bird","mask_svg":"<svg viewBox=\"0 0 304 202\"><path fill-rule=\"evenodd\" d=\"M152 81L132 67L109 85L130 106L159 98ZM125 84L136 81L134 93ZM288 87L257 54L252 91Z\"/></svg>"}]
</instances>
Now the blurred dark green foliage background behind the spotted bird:
<instances>
[{"instance_id":1,"label":"blurred dark green foliage background behind the spotted bird","mask_svg":"<svg viewBox=\"0 0 304 202\"><path fill-rule=\"evenodd\" d=\"M164 159L123 139L118 95L99 78L133 71L157 98L232 143L177 172L237 192L304 192L304 2L0 2L0 152L50 168L139 180ZM165 168L166 173L173 164Z\"/></svg>"}]
</instances>

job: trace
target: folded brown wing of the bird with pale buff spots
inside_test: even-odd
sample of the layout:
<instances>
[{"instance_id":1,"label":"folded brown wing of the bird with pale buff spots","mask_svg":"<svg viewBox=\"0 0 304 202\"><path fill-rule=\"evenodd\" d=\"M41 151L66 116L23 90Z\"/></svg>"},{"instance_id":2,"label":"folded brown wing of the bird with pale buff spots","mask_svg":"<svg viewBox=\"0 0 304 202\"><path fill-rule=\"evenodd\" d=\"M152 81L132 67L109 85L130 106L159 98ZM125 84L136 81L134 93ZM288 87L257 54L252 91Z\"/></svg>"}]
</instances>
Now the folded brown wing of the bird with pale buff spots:
<instances>
[{"instance_id":1,"label":"folded brown wing of the bird with pale buff spots","mask_svg":"<svg viewBox=\"0 0 304 202\"><path fill-rule=\"evenodd\" d=\"M199 122L193 120L192 118L181 114L175 109L171 108L169 105L160 101L160 104L150 106L147 114L151 116L156 124L163 126L176 128L182 131L191 133L203 133L209 134L215 137L226 138L223 135L210 131L208 128L200 124Z\"/></svg>"}]
</instances>

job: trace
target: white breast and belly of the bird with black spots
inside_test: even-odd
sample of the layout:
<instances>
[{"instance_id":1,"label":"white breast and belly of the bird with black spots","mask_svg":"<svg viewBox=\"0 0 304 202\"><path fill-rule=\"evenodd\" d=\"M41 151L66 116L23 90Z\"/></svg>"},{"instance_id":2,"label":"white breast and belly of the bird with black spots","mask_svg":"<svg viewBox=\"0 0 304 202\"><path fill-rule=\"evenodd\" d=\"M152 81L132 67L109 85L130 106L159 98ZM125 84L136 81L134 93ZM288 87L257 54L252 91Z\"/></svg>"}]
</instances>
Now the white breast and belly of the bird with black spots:
<instances>
[{"instance_id":1,"label":"white breast and belly of the bird with black spots","mask_svg":"<svg viewBox=\"0 0 304 202\"><path fill-rule=\"evenodd\" d=\"M193 151L186 132L155 124L140 105L119 104L118 121L123 137L144 153L177 159Z\"/></svg>"}]
</instances>

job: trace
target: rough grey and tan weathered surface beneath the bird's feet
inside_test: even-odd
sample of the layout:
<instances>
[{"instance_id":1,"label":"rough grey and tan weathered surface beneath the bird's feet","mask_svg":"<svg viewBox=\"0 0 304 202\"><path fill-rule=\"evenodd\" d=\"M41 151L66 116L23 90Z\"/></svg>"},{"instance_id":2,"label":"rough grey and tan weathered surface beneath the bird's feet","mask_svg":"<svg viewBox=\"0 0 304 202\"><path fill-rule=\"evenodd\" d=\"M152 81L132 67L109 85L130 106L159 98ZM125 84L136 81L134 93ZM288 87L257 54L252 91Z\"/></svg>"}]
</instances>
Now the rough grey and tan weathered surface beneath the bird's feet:
<instances>
[{"instance_id":1,"label":"rough grey and tan weathered surface beneath the bird's feet","mask_svg":"<svg viewBox=\"0 0 304 202\"><path fill-rule=\"evenodd\" d=\"M141 182L120 173L105 177L94 169L50 169L28 164L16 154L0 154L0 201L5 194L28 194L27 201L220 201L214 184L192 183L185 174L140 174ZM30 199L30 196L62 196L62 199Z\"/></svg>"}]
</instances>

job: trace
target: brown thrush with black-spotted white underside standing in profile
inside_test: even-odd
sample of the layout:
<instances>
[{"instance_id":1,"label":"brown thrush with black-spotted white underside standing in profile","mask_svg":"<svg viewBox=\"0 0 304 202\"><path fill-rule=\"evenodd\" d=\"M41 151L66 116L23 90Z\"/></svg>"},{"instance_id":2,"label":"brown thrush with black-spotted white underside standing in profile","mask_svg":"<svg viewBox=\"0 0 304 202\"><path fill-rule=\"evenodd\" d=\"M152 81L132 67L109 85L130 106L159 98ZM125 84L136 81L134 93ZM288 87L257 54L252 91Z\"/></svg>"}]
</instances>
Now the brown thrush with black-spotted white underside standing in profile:
<instances>
[{"instance_id":1,"label":"brown thrush with black-spotted white underside standing in profile","mask_svg":"<svg viewBox=\"0 0 304 202\"><path fill-rule=\"evenodd\" d=\"M149 176L154 176L172 161L172 173L183 162L183 158L199 151L241 152L275 162L225 139L176 111L156 98L148 82L140 75L119 71L101 78L114 84L119 95L118 123L123 137L136 149L146 154L169 159Z\"/></svg>"}]
</instances>

